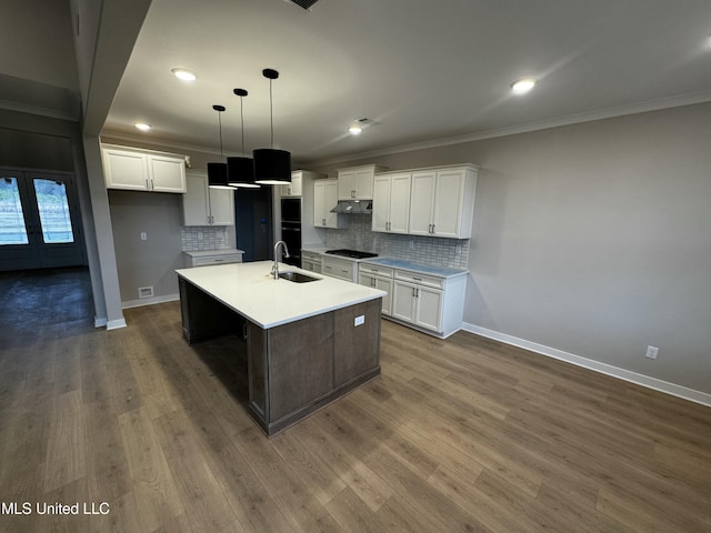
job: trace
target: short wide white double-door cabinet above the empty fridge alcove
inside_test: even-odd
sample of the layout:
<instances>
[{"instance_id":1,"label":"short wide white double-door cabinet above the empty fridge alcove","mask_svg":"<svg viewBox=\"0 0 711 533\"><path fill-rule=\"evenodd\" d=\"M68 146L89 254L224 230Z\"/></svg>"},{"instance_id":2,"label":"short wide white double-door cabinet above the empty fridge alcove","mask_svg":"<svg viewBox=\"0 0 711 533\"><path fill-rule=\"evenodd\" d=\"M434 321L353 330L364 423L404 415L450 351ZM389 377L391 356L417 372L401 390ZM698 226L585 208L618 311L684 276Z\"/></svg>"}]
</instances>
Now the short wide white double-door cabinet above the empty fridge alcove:
<instances>
[{"instance_id":1,"label":"short wide white double-door cabinet above the empty fridge alcove","mask_svg":"<svg viewBox=\"0 0 711 533\"><path fill-rule=\"evenodd\" d=\"M124 147L101 148L108 189L186 192L186 158Z\"/></svg>"}]
</instances>

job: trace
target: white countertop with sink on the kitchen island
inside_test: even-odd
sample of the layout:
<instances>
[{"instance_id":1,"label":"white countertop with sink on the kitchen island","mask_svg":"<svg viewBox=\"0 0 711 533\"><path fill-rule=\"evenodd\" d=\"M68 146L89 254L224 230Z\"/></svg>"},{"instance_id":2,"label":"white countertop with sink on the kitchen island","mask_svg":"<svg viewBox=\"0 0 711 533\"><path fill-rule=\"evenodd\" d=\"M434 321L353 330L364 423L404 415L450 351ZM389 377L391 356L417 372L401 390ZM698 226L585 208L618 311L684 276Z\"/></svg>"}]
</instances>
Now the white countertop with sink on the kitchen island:
<instances>
[{"instance_id":1,"label":"white countertop with sink on the kitchen island","mask_svg":"<svg viewBox=\"0 0 711 533\"><path fill-rule=\"evenodd\" d=\"M279 263L279 272L301 272L319 281L294 283L274 280L273 261L218 264L177 270L179 276L200 288L260 328L307 319L382 298L369 286Z\"/></svg>"}]
</instances>

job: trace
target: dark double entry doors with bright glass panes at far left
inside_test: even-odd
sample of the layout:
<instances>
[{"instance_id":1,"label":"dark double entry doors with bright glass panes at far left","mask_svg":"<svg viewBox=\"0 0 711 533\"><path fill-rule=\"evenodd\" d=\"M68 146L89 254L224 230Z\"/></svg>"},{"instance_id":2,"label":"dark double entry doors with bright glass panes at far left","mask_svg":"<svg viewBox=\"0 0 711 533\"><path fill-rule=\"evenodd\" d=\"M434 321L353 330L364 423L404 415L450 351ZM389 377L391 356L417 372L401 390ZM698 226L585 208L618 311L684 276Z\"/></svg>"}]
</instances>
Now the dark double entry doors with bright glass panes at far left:
<instances>
[{"instance_id":1,"label":"dark double entry doors with bright glass panes at far left","mask_svg":"<svg viewBox=\"0 0 711 533\"><path fill-rule=\"evenodd\" d=\"M73 177L0 170L0 270L84 264Z\"/></svg>"}]
</instances>

